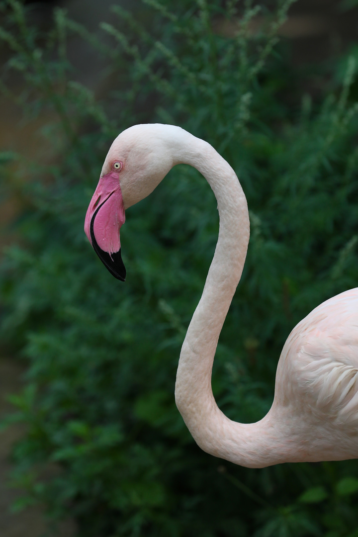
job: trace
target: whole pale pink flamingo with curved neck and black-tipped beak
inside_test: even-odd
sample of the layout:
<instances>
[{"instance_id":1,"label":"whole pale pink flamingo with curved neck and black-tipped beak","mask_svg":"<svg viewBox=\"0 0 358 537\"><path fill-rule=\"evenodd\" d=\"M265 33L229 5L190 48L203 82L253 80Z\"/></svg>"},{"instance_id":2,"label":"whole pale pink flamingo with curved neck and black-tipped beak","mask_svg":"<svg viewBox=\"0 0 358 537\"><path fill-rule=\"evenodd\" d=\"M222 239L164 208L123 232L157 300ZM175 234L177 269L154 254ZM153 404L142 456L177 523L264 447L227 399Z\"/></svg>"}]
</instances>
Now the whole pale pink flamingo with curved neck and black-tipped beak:
<instances>
[{"instance_id":1,"label":"whole pale pink flamingo with curved neck and black-tipped beak","mask_svg":"<svg viewBox=\"0 0 358 537\"><path fill-rule=\"evenodd\" d=\"M203 293L180 353L176 404L207 453L249 468L358 458L358 288L323 302L288 336L271 409L237 423L218 408L211 369L240 280L250 235L246 198L231 166L173 125L135 125L113 142L85 218L85 233L109 272L125 280L119 230L125 210L148 196L172 166L194 166L217 199L220 230Z\"/></svg>"}]
</instances>

